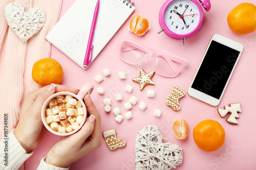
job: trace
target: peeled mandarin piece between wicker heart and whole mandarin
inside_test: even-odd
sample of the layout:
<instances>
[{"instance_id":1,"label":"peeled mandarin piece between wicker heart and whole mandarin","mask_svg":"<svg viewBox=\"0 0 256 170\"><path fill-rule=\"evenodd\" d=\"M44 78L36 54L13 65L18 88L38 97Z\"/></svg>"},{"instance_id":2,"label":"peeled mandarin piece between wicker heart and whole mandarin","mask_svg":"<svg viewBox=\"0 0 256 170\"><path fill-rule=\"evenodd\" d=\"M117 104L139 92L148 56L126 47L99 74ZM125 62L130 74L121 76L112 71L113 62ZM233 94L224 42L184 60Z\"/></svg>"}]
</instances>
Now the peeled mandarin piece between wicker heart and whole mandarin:
<instances>
[{"instance_id":1,"label":"peeled mandarin piece between wicker heart and whole mandarin","mask_svg":"<svg viewBox=\"0 0 256 170\"><path fill-rule=\"evenodd\" d=\"M175 120L173 124L173 132L178 139L185 139L188 136L188 126L186 120Z\"/></svg>"}]
</instances>

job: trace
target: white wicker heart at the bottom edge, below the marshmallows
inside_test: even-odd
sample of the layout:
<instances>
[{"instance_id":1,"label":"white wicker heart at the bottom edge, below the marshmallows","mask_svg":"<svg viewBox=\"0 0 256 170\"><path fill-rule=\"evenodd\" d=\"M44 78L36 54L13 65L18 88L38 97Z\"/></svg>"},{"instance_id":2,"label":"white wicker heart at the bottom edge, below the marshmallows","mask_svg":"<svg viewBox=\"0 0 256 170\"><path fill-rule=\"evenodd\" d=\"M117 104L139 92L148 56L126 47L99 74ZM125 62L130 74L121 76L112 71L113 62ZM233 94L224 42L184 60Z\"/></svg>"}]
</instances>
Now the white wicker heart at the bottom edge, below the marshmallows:
<instances>
[{"instance_id":1,"label":"white wicker heart at the bottom edge, below the marshmallows","mask_svg":"<svg viewBox=\"0 0 256 170\"><path fill-rule=\"evenodd\" d=\"M162 139L166 138L156 126L149 125L138 132L135 144L136 170L167 170L182 163L182 149L177 144L163 143Z\"/></svg>"}]
</instances>

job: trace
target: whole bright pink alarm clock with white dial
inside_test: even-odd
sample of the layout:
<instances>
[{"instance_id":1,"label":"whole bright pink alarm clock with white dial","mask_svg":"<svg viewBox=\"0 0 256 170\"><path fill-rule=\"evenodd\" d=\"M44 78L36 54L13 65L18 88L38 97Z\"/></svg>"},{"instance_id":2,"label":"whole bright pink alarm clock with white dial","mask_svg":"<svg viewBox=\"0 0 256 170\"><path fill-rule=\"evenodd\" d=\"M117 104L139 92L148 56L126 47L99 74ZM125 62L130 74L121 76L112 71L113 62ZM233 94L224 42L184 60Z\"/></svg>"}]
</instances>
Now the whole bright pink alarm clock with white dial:
<instances>
[{"instance_id":1,"label":"whole bright pink alarm clock with white dial","mask_svg":"<svg viewBox=\"0 0 256 170\"><path fill-rule=\"evenodd\" d=\"M200 3L199 3L200 2ZM167 0L159 12L159 23L164 32L176 39L184 39L194 35L203 23L203 9L210 10L209 0Z\"/></svg>"}]
</instances>

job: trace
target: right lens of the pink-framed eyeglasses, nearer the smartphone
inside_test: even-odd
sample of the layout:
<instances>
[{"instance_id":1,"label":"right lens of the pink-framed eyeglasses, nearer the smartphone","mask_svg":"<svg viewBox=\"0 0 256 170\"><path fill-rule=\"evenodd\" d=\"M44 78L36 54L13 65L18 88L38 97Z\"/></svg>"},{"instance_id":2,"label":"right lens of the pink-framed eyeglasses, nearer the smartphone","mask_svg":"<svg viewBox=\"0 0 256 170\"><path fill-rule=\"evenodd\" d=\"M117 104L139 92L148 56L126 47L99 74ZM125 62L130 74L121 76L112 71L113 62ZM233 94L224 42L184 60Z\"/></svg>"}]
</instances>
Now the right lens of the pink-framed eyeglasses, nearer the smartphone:
<instances>
[{"instance_id":1,"label":"right lens of the pink-framed eyeglasses, nearer the smartphone","mask_svg":"<svg viewBox=\"0 0 256 170\"><path fill-rule=\"evenodd\" d=\"M156 70L168 77L176 76L181 69L181 63L170 60L167 56L156 57Z\"/></svg>"}]
</instances>

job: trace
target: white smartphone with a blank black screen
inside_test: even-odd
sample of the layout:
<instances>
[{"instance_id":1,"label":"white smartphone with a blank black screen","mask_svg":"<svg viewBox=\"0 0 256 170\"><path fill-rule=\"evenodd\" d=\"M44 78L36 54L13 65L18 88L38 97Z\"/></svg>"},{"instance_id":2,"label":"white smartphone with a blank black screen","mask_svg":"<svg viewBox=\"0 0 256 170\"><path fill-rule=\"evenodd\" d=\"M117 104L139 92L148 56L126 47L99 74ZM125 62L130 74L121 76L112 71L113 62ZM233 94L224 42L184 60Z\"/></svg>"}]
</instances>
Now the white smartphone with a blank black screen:
<instances>
[{"instance_id":1,"label":"white smartphone with a blank black screen","mask_svg":"<svg viewBox=\"0 0 256 170\"><path fill-rule=\"evenodd\" d=\"M243 48L237 41L214 34L188 88L188 95L211 106L219 105Z\"/></svg>"}]
</instances>

